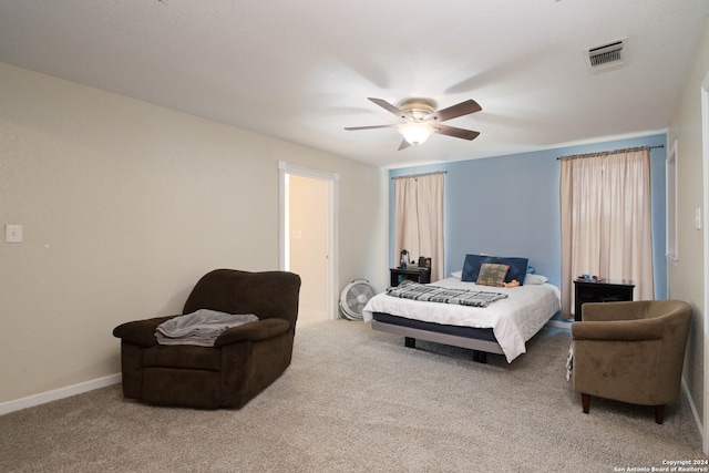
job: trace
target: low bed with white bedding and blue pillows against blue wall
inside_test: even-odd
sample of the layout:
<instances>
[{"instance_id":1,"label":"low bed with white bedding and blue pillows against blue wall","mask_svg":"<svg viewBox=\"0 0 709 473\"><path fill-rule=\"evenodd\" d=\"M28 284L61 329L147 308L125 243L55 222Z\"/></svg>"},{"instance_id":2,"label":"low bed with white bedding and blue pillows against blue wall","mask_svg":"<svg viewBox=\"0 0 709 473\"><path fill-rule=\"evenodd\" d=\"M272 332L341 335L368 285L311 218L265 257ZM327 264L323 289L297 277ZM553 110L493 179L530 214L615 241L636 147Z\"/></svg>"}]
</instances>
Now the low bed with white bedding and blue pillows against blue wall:
<instances>
[{"instance_id":1,"label":"low bed with white bedding and blue pillows against blue wall","mask_svg":"<svg viewBox=\"0 0 709 473\"><path fill-rule=\"evenodd\" d=\"M419 285L501 295L486 307L411 300L387 294L393 289L389 288L369 300L363 320L374 330L403 336L407 347L415 347L419 339L471 349L481 362L486 361L487 353L503 354L510 363L526 352L526 341L561 310L561 291L546 277L527 274L524 258L516 258L521 260L517 270L499 281L511 287L481 284L481 269L486 269L490 261L500 266L501 259L508 258L467 255L463 271L431 285Z\"/></svg>"}]
</instances>

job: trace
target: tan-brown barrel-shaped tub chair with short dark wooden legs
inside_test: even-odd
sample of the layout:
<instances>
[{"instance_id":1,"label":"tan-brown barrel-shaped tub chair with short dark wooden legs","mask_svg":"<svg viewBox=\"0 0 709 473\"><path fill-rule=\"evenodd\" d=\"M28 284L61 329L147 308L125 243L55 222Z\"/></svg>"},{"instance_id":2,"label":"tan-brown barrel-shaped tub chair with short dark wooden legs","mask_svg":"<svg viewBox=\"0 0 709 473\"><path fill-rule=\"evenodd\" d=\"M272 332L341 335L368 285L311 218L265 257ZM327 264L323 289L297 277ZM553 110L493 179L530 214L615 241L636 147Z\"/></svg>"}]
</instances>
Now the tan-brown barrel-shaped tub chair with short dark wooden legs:
<instances>
[{"instance_id":1,"label":"tan-brown barrel-shaped tub chair with short dark wooden legs","mask_svg":"<svg viewBox=\"0 0 709 473\"><path fill-rule=\"evenodd\" d=\"M587 302L572 325L574 390L585 413L590 397L655 407L679 395L691 307L681 300Z\"/></svg>"}]
</instances>

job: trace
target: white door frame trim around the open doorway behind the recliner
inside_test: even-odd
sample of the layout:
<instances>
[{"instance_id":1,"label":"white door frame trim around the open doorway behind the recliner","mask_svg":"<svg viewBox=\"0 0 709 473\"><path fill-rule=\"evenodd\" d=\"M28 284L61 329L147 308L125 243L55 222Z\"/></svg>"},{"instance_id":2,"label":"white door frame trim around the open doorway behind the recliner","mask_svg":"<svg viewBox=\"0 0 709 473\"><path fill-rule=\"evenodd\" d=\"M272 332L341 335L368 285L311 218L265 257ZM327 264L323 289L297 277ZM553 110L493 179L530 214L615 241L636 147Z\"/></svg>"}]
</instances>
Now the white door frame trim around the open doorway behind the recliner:
<instances>
[{"instance_id":1,"label":"white door frame trim around the open doorway behind the recliner","mask_svg":"<svg viewBox=\"0 0 709 473\"><path fill-rule=\"evenodd\" d=\"M286 193L286 176L289 174L310 177L328 183L328 277L327 277L327 316L328 319L337 319L337 295L336 289L339 287L338 268L338 220L337 220L337 204L338 204L338 184L340 176L337 173L328 173L319 169L311 169L308 167L298 166L287 163L285 161L278 162L278 192L279 192L279 232L278 232L278 266L280 270L285 270L287 267L287 244L289 240L288 235L288 208L287 208L287 193Z\"/></svg>"}]
</instances>

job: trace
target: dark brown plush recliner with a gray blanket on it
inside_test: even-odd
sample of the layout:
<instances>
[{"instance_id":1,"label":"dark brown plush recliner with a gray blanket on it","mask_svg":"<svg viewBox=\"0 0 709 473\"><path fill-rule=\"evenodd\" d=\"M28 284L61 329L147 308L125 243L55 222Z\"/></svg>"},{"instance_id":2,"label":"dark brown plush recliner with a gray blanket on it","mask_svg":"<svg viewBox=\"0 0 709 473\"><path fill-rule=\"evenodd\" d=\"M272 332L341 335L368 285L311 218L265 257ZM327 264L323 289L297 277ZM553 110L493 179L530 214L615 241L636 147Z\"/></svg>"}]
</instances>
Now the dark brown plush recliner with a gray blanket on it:
<instances>
[{"instance_id":1,"label":"dark brown plush recliner with a gray blanket on it","mask_svg":"<svg viewBox=\"0 0 709 473\"><path fill-rule=\"evenodd\" d=\"M176 316L116 327L123 395L163 405L244 407L290 364L299 291L292 273L216 269L203 276L183 315L210 309L259 318L225 330L214 347L158 345L155 329Z\"/></svg>"}]
</instances>

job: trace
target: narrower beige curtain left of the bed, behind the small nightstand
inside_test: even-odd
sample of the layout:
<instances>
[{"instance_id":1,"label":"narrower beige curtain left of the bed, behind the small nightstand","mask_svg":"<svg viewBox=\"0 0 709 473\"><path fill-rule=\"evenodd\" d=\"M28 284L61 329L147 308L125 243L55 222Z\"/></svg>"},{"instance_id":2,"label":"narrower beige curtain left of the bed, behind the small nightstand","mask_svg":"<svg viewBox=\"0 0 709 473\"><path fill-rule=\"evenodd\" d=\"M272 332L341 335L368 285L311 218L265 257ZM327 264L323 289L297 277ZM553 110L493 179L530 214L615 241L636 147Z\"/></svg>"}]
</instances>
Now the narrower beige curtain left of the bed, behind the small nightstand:
<instances>
[{"instance_id":1,"label":"narrower beige curtain left of the bed, behind the small nightstand","mask_svg":"<svg viewBox=\"0 0 709 473\"><path fill-rule=\"evenodd\" d=\"M394 177L394 266L402 249L411 260L431 258L431 282L443 275L443 173Z\"/></svg>"}]
</instances>

